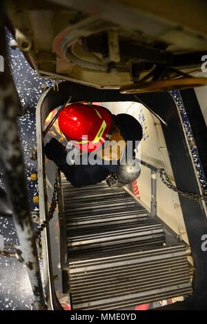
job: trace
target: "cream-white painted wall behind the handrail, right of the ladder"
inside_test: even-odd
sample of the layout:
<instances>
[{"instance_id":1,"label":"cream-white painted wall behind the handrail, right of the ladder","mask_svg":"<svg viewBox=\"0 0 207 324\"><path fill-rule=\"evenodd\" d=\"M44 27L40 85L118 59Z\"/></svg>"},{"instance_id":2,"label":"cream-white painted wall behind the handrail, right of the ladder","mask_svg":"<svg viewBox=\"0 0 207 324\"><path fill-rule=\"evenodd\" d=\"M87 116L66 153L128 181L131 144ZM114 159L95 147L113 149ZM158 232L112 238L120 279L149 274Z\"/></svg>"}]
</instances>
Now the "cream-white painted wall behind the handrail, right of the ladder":
<instances>
[{"instance_id":1,"label":"cream-white painted wall behind the handrail, right of the ladder","mask_svg":"<svg viewBox=\"0 0 207 324\"><path fill-rule=\"evenodd\" d=\"M174 183L172 168L164 134L161 129L161 122L141 103L135 102L115 102L102 103L112 114L126 113L135 117L143 128L143 139L139 144L139 158L157 168L164 168L170 180ZM141 202L150 209L151 200L151 172L146 166L141 165L141 174L137 179L137 194ZM157 214L181 239L188 243L188 236L181 211L179 196L176 192L168 189L162 183L157 174Z\"/></svg>"}]
</instances>

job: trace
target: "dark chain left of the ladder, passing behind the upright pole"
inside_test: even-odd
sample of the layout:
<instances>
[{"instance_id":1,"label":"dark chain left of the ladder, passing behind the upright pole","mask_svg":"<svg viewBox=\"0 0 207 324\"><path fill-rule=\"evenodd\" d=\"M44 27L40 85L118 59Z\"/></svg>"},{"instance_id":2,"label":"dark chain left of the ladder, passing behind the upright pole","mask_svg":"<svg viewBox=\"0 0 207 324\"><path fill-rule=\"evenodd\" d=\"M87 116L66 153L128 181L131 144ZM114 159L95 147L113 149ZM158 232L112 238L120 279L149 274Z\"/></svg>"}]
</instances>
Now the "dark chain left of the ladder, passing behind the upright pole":
<instances>
[{"instance_id":1,"label":"dark chain left of the ladder, passing behind the upright pole","mask_svg":"<svg viewBox=\"0 0 207 324\"><path fill-rule=\"evenodd\" d=\"M38 225L37 230L35 231L35 239L37 243L39 243L39 247L41 247L41 232L44 228L48 225L50 219L52 219L55 209L57 207L57 188L58 188L58 178L55 179L54 183L54 190L52 194L52 201L50 203L50 209L48 211L48 216L46 217L46 221L43 221L41 224ZM6 245L4 246L4 249L13 249L12 252L10 251L1 251L0 254L7 257L16 258L18 261L23 262L23 258L21 256L21 250L15 248L13 245Z\"/></svg>"}]
</instances>

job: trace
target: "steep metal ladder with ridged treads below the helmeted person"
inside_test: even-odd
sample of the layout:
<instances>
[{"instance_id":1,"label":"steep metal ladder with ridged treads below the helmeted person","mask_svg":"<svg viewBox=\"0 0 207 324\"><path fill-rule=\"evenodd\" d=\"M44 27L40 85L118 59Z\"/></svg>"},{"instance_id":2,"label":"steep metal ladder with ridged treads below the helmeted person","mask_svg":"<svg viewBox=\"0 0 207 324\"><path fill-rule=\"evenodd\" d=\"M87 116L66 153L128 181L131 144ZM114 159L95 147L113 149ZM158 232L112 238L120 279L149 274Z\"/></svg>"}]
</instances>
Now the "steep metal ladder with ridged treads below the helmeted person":
<instances>
[{"instance_id":1,"label":"steep metal ladder with ridged treads below the helmeted person","mask_svg":"<svg viewBox=\"0 0 207 324\"><path fill-rule=\"evenodd\" d=\"M74 310L123 310L192 294L186 246L164 245L162 225L123 188L73 188L61 174Z\"/></svg>"}]
</instances>

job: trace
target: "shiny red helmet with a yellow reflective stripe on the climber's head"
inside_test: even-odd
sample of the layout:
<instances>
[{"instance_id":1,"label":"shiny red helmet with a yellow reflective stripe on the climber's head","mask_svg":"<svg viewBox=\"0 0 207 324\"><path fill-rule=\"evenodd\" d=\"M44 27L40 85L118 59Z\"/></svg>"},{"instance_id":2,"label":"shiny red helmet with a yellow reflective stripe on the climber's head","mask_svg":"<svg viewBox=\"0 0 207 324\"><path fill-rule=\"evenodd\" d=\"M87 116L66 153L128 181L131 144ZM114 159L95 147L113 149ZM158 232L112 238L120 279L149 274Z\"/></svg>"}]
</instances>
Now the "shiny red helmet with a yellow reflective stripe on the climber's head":
<instances>
[{"instance_id":1,"label":"shiny red helmet with a yellow reflective stripe on the climber's head","mask_svg":"<svg viewBox=\"0 0 207 324\"><path fill-rule=\"evenodd\" d=\"M59 112L59 128L68 141L85 152L97 150L112 128L111 112L99 105L71 103Z\"/></svg>"}]
</instances>

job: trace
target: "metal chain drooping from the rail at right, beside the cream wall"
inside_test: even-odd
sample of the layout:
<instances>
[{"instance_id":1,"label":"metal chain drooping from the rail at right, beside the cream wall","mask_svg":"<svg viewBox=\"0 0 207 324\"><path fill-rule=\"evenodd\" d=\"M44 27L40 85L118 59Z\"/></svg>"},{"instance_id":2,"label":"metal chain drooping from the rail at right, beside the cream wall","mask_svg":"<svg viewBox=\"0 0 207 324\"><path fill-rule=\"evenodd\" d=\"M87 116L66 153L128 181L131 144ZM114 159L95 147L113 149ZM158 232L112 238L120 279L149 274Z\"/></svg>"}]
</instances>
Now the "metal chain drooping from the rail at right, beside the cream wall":
<instances>
[{"instance_id":1,"label":"metal chain drooping from the rail at right, beside the cream wall","mask_svg":"<svg viewBox=\"0 0 207 324\"><path fill-rule=\"evenodd\" d=\"M204 194L196 194L195 192L188 192L181 190L177 188L175 185L172 184L170 181L168 174L166 174L164 169L159 169L159 176L161 178L161 181L171 190L177 192L178 194L181 194L182 196L193 199L195 201L207 201L207 190L204 191Z\"/></svg>"}]
</instances>

